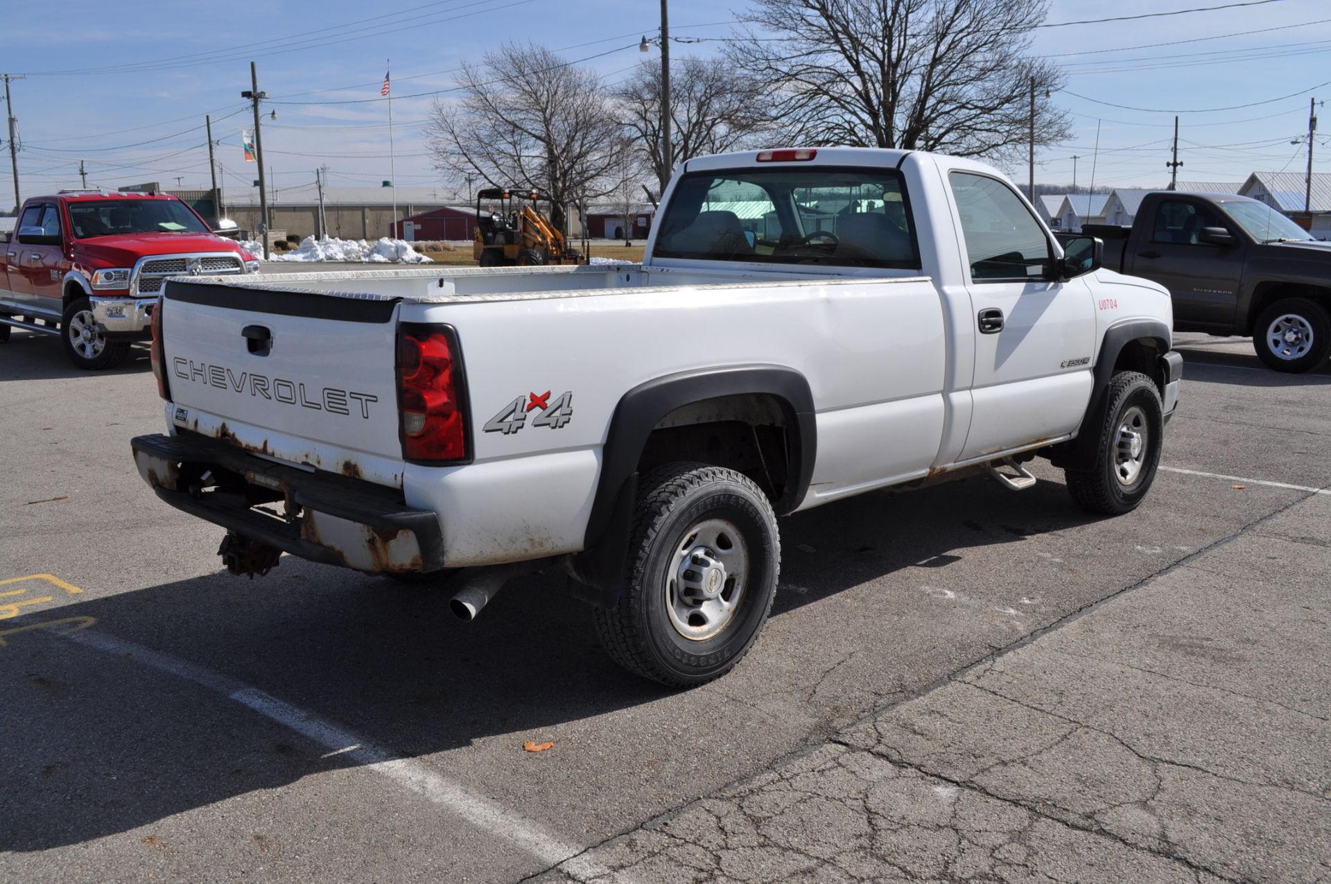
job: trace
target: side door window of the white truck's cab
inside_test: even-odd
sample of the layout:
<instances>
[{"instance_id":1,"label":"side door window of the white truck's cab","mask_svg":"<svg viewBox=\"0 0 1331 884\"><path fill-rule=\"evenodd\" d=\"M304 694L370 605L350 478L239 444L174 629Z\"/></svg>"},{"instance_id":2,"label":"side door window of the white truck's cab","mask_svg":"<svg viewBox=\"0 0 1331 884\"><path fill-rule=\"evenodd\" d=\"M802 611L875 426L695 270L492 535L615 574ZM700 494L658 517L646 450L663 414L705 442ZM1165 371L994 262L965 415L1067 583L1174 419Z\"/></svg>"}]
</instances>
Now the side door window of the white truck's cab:
<instances>
[{"instance_id":1,"label":"side door window of the white truck's cab","mask_svg":"<svg viewBox=\"0 0 1331 884\"><path fill-rule=\"evenodd\" d=\"M1047 278L1049 238L1012 188L968 172L953 172L948 180L961 216L972 280Z\"/></svg>"}]
</instances>

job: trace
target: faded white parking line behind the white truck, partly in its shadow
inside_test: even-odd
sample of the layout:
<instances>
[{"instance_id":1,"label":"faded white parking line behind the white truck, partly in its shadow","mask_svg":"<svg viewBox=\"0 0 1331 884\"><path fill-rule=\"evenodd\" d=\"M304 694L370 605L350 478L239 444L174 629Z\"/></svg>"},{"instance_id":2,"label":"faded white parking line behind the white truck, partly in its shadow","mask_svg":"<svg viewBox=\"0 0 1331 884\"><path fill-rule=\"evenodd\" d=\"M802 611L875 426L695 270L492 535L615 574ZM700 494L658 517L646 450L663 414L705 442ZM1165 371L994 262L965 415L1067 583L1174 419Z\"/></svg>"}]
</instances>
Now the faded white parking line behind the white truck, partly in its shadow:
<instances>
[{"instance_id":1,"label":"faded white parking line behind the white truck, partly in its shadow","mask_svg":"<svg viewBox=\"0 0 1331 884\"><path fill-rule=\"evenodd\" d=\"M606 876L614 881L624 880L623 876L616 876L608 868L578 856L583 852L582 847L564 841L558 835L546 831L539 823L514 813L483 795L476 795L467 787L435 773L423 764L397 758L387 750L367 743L313 712L297 708L244 682L213 672L178 656L110 635L85 630L67 632L61 638L116 656L132 656L138 663L221 694L226 699L327 747L331 750L331 755L346 755L357 764L411 789L426 800L461 816L471 825L503 837L547 865L562 864L562 871L578 877Z\"/></svg>"}]
</instances>

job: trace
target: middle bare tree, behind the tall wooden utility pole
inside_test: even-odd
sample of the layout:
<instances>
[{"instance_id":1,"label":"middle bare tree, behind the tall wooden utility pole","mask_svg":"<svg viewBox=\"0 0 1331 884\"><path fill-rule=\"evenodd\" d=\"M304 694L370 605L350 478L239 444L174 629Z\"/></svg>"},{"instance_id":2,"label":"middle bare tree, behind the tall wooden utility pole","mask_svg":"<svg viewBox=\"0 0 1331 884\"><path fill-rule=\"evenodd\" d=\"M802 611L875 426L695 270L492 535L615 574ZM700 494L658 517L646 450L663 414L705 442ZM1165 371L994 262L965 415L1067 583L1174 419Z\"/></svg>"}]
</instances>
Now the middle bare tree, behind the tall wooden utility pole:
<instances>
[{"instance_id":1,"label":"middle bare tree, behind the tall wooden utility pole","mask_svg":"<svg viewBox=\"0 0 1331 884\"><path fill-rule=\"evenodd\" d=\"M671 157L676 164L756 142L772 124L768 89L725 59L671 64ZM662 189L673 169L662 162L662 65L644 61L616 91L627 125Z\"/></svg>"}]
</instances>

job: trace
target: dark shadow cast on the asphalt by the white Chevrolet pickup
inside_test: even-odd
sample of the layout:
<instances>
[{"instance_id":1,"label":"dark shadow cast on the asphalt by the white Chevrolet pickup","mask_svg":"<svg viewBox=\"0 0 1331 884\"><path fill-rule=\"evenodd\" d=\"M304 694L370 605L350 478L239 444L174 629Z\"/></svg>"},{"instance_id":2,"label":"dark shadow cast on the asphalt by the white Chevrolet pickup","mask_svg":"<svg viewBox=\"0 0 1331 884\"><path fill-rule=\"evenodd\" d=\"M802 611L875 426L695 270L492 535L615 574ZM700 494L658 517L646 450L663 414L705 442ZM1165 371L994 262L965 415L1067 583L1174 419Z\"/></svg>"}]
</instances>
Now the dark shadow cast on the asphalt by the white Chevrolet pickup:
<instances>
[{"instance_id":1,"label":"dark shadow cast on the asphalt by the white Chevrolet pickup","mask_svg":"<svg viewBox=\"0 0 1331 884\"><path fill-rule=\"evenodd\" d=\"M1010 493L968 479L791 517L773 616L904 567L1093 521L1058 483L1022 497L1013 507ZM796 554L808 550L816 554ZM610 662L555 570L514 582L470 624L447 600L286 558L264 579L210 574L67 604L47 619L92 618L72 626L206 667L403 758L495 735L516 742L644 704L687 708ZM132 652L43 630L0 634L0 851L79 844L351 766Z\"/></svg>"}]
</instances>

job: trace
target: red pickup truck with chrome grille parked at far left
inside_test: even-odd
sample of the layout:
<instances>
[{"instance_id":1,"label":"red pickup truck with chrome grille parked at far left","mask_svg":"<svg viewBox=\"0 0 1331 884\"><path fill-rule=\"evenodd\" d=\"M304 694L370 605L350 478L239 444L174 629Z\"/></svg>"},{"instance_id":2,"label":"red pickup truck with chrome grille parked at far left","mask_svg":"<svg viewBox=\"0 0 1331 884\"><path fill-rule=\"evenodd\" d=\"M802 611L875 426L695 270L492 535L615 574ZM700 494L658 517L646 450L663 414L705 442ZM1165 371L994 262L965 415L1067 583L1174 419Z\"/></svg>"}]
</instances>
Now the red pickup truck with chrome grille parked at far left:
<instances>
[{"instance_id":1,"label":"red pickup truck with chrome grille parked at far left","mask_svg":"<svg viewBox=\"0 0 1331 884\"><path fill-rule=\"evenodd\" d=\"M0 343L56 334L81 369L110 369L150 334L173 276L254 273L258 260L166 194L61 190L23 204L0 250Z\"/></svg>"}]
</instances>

